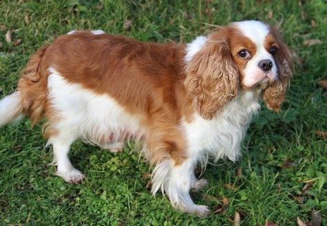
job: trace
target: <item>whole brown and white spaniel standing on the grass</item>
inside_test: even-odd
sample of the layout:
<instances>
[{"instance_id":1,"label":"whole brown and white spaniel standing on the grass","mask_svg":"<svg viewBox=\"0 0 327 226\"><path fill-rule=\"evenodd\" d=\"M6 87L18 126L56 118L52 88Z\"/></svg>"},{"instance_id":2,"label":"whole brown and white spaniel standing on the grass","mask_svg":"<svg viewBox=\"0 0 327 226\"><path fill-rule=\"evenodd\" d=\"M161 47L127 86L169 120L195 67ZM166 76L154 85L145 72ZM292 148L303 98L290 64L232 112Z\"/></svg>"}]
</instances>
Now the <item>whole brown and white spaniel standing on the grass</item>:
<instances>
[{"instance_id":1,"label":"whole brown and white spaniel standing on the grass","mask_svg":"<svg viewBox=\"0 0 327 226\"><path fill-rule=\"evenodd\" d=\"M206 183L196 164L208 155L237 159L260 98L278 111L292 70L277 28L259 21L187 45L73 31L32 55L17 91L0 101L0 126L45 117L56 174L72 183L84 179L68 158L76 139L115 152L126 139L143 141L153 194L162 190L174 207L204 216L209 209L189 195Z\"/></svg>"}]
</instances>

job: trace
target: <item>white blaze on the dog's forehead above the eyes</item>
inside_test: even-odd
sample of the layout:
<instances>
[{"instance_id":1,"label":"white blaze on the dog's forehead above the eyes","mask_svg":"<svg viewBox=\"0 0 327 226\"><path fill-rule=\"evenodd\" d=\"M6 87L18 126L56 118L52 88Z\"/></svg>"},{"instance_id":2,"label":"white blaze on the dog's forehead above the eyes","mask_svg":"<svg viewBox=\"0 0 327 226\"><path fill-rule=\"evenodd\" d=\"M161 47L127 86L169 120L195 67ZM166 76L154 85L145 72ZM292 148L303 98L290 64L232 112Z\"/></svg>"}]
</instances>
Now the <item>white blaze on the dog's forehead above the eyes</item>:
<instances>
[{"instance_id":1,"label":"white blaze on the dog's forehead above the eyes","mask_svg":"<svg viewBox=\"0 0 327 226\"><path fill-rule=\"evenodd\" d=\"M238 29L257 46L264 44L264 38L269 33L268 25L260 21L241 21L233 24L238 26Z\"/></svg>"}]
</instances>

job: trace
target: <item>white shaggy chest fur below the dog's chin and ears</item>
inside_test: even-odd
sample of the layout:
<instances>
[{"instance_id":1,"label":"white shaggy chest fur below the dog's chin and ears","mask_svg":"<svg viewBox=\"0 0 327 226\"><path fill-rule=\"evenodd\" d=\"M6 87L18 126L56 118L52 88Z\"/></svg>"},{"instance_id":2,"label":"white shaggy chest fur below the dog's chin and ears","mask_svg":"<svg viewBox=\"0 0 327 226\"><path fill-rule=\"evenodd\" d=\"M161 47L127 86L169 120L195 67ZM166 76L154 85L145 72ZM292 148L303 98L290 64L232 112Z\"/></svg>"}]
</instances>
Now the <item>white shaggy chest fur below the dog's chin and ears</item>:
<instances>
[{"instance_id":1,"label":"white shaggy chest fur below the dog's chin and ears","mask_svg":"<svg viewBox=\"0 0 327 226\"><path fill-rule=\"evenodd\" d=\"M243 91L213 120L196 115L191 123L183 122L187 132L189 154L211 154L215 159L228 157L235 161L253 113L260 109L260 90Z\"/></svg>"}]
</instances>

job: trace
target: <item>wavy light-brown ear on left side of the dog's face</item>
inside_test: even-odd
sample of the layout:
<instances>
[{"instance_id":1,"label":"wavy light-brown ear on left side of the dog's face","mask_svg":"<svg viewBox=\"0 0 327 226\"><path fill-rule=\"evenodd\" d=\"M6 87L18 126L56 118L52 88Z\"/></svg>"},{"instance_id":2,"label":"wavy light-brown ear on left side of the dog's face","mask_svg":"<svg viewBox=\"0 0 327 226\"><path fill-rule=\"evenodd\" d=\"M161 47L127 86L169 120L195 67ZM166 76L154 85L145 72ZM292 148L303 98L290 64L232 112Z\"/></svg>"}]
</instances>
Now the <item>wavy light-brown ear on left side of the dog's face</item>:
<instances>
[{"instance_id":1,"label":"wavy light-brown ear on left side of the dog's face","mask_svg":"<svg viewBox=\"0 0 327 226\"><path fill-rule=\"evenodd\" d=\"M233 62L226 27L209 35L186 65L184 86L202 118L211 120L238 93L238 69Z\"/></svg>"}]
</instances>

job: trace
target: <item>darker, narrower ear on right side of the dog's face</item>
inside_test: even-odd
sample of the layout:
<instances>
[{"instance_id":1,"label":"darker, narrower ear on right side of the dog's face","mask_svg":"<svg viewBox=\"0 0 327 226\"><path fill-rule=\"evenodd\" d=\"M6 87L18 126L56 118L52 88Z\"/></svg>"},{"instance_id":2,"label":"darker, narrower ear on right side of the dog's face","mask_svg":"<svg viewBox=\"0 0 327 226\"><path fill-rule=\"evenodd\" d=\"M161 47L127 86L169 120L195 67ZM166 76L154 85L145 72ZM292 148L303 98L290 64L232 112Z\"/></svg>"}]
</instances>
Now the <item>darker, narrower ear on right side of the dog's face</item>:
<instances>
[{"instance_id":1,"label":"darker, narrower ear on right side of the dog's face","mask_svg":"<svg viewBox=\"0 0 327 226\"><path fill-rule=\"evenodd\" d=\"M291 53L287 45L282 41L277 27L272 27L271 32L274 34L275 38L277 38L277 43L279 45L275 57L278 68L278 80L264 89L262 95L268 109L278 112L284 101L284 95L292 77L294 66Z\"/></svg>"}]
</instances>

